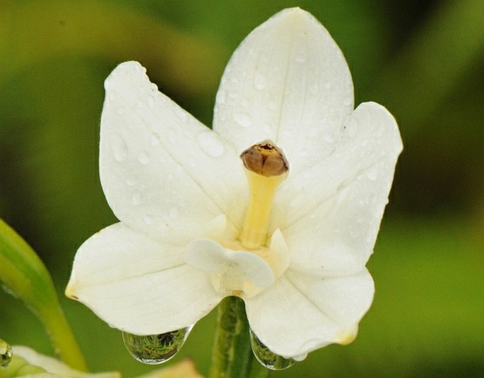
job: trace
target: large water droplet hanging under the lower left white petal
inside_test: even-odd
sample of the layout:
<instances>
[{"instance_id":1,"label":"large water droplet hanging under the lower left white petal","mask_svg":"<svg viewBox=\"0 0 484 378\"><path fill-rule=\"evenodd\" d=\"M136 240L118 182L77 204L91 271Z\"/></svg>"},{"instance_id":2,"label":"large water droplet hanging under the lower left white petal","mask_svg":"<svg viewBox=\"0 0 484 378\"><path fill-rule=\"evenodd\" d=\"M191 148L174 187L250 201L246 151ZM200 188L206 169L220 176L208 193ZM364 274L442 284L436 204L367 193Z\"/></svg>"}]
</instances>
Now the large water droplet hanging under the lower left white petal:
<instances>
[{"instance_id":1,"label":"large water droplet hanging under the lower left white petal","mask_svg":"<svg viewBox=\"0 0 484 378\"><path fill-rule=\"evenodd\" d=\"M187 340L192 327L148 336L123 332L124 346L136 360L148 365L158 365L175 357Z\"/></svg>"}]
</instances>

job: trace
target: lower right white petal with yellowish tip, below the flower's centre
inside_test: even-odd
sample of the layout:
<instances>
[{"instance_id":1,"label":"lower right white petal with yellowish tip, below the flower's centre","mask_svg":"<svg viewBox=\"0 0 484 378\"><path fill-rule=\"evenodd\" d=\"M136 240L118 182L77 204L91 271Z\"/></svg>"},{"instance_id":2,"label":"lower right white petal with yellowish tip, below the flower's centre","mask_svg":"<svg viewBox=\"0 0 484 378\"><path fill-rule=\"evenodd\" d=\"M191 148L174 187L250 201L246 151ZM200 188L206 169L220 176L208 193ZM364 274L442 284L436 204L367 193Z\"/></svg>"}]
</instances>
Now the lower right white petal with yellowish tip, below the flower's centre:
<instances>
[{"instance_id":1,"label":"lower right white petal with yellowish tip, below the flower's centre","mask_svg":"<svg viewBox=\"0 0 484 378\"><path fill-rule=\"evenodd\" d=\"M246 300L247 317L252 331L273 353L297 357L354 339L373 293L366 269L334 279L288 272Z\"/></svg>"}]
</instances>

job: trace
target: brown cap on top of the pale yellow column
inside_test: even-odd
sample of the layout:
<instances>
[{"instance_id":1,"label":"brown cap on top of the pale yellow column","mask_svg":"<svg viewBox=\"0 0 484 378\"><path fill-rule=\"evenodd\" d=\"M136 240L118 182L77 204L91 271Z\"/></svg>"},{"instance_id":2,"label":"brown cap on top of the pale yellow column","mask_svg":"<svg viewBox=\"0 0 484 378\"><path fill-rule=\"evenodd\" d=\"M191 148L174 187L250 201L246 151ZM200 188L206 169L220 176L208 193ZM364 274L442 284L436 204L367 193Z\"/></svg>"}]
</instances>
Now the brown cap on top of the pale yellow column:
<instances>
[{"instance_id":1,"label":"brown cap on top of the pale yellow column","mask_svg":"<svg viewBox=\"0 0 484 378\"><path fill-rule=\"evenodd\" d=\"M245 168L261 176L281 176L289 170L283 151L270 140L247 148L240 158Z\"/></svg>"}]
</instances>

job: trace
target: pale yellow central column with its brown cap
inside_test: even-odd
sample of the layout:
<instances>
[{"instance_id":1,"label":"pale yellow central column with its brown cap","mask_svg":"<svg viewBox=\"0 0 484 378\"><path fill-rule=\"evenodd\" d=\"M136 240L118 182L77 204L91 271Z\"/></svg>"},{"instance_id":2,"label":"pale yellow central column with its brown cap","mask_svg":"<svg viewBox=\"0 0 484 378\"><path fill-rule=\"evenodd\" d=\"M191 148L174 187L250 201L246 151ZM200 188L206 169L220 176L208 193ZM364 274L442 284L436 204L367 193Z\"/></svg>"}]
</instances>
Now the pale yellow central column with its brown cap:
<instances>
[{"instance_id":1,"label":"pale yellow central column with its brown cap","mask_svg":"<svg viewBox=\"0 0 484 378\"><path fill-rule=\"evenodd\" d=\"M268 140L249 147L240 158L250 188L240 243L244 248L256 250L267 243L272 203L278 185L288 176L289 164L282 150Z\"/></svg>"}]
</instances>

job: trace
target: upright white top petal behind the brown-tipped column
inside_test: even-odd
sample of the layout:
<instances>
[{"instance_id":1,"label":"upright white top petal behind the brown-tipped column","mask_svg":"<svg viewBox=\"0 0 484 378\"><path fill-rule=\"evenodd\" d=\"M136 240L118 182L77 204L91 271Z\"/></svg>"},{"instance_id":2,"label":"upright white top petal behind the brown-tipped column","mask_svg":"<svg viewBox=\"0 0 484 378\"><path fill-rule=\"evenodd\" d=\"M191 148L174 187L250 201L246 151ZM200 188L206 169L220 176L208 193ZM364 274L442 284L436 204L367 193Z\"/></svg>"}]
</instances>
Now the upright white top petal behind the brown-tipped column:
<instances>
[{"instance_id":1,"label":"upright white top petal behind the brown-tipped column","mask_svg":"<svg viewBox=\"0 0 484 378\"><path fill-rule=\"evenodd\" d=\"M353 111L346 61L324 27L290 8L256 28L225 68L213 129L242 152L271 139L293 171L318 161Z\"/></svg>"}]
</instances>

